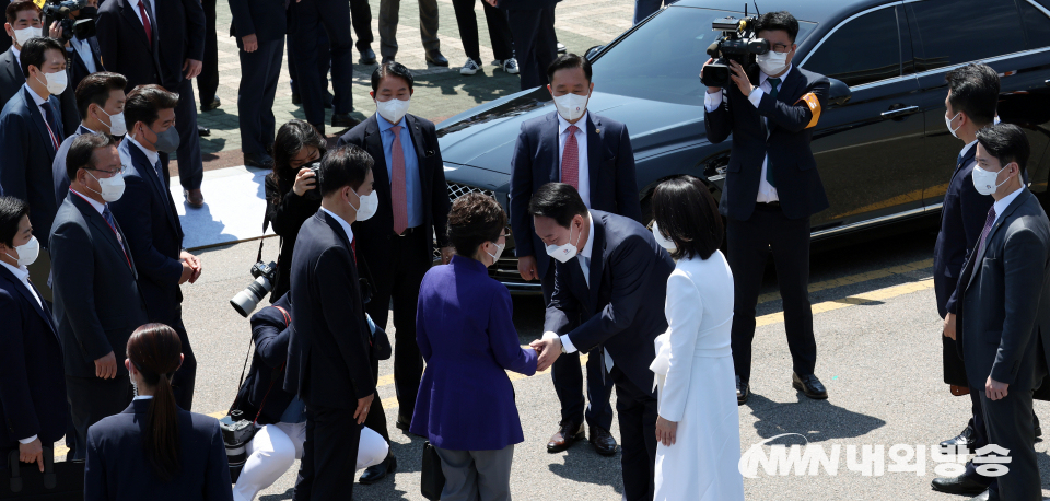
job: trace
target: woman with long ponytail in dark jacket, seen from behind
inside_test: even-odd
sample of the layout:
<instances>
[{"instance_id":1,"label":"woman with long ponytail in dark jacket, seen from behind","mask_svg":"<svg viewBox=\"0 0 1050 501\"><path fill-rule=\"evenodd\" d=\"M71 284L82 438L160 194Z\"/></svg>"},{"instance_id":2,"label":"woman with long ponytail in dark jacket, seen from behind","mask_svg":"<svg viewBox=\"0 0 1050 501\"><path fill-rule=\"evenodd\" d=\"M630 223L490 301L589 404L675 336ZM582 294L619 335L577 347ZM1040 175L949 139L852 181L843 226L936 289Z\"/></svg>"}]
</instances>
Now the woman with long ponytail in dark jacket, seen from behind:
<instances>
[{"instance_id":1,"label":"woman with long ponytail in dark jacket, seen from behind","mask_svg":"<svg viewBox=\"0 0 1050 501\"><path fill-rule=\"evenodd\" d=\"M124 412L88 429L84 499L232 500L219 421L175 405L172 375L183 363L175 330L139 327L124 363L136 397Z\"/></svg>"}]
</instances>

